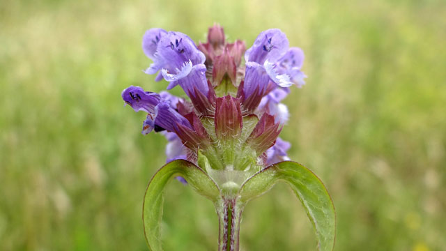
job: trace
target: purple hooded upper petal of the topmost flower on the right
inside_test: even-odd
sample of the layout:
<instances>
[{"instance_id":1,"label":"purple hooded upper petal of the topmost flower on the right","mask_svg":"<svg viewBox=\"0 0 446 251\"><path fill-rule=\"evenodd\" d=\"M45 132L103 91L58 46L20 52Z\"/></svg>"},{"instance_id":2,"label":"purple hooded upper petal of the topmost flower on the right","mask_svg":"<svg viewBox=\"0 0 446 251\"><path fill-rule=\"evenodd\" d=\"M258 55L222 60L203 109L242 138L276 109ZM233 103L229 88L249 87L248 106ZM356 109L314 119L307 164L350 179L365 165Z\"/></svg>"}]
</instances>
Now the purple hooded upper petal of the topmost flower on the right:
<instances>
[{"instance_id":1,"label":"purple hooded upper petal of the topmost flower on the right","mask_svg":"<svg viewBox=\"0 0 446 251\"><path fill-rule=\"evenodd\" d=\"M245 61L263 64L266 60L276 63L288 50L289 42L279 29L268 29L257 36L254 45L245 52Z\"/></svg>"}]
</instances>

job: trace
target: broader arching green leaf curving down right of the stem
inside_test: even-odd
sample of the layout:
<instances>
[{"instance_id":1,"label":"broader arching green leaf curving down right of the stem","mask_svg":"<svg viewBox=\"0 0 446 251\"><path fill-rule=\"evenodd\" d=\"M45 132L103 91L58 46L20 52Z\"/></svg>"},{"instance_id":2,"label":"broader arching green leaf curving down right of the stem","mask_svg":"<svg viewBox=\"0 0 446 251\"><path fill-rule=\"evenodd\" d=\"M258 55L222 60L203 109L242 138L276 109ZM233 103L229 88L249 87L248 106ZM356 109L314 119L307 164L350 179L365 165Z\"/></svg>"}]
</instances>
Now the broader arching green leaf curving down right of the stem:
<instances>
[{"instance_id":1,"label":"broader arching green leaf curving down right of the stem","mask_svg":"<svg viewBox=\"0 0 446 251\"><path fill-rule=\"evenodd\" d=\"M332 199L322 181L299 163L279 162L254 174L240 189L240 200L247 202L267 192L277 181L288 183L302 202L316 231L318 249L332 250L336 231Z\"/></svg>"}]
</instances>

